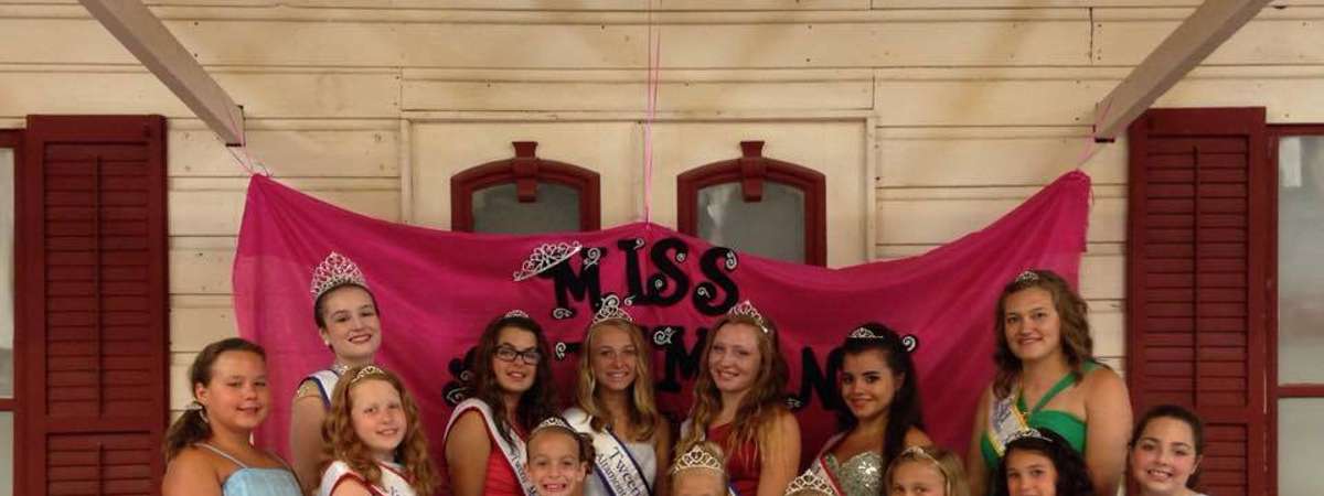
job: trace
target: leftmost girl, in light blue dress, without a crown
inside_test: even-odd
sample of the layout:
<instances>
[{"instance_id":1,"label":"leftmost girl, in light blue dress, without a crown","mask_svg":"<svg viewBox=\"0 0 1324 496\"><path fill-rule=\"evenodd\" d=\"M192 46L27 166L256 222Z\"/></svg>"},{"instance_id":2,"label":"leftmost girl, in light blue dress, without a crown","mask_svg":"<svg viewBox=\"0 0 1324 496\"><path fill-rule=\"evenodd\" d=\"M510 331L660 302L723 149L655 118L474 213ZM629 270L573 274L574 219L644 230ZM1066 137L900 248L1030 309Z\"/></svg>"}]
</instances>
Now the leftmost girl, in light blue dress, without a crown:
<instances>
[{"instance_id":1,"label":"leftmost girl, in light blue dress, without a crown","mask_svg":"<svg viewBox=\"0 0 1324 496\"><path fill-rule=\"evenodd\" d=\"M230 337L203 348L188 368L193 402L166 433L164 496L299 496L275 454L249 440L271 406L262 347Z\"/></svg>"}]
</instances>

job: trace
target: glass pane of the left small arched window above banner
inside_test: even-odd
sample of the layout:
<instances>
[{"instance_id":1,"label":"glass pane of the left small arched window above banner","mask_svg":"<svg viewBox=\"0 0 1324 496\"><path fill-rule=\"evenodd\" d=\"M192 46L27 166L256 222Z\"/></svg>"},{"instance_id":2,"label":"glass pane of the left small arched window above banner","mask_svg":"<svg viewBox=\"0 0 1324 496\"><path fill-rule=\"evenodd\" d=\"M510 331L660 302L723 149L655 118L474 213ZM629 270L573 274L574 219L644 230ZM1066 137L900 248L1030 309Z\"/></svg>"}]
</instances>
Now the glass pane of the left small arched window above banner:
<instances>
[{"instance_id":1,"label":"glass pane of the left small arched window above banner","mask_svg":"<svg viewBox=\"0 0 1324 496\"><path fill-rule=\"evenodd\" d=\"M515 184L498 184L474 192L474 231L502 234L539 234L577 231L579 190L571 186L539 183L538 201L520 204Z\"/></svg>"}]
</instances>

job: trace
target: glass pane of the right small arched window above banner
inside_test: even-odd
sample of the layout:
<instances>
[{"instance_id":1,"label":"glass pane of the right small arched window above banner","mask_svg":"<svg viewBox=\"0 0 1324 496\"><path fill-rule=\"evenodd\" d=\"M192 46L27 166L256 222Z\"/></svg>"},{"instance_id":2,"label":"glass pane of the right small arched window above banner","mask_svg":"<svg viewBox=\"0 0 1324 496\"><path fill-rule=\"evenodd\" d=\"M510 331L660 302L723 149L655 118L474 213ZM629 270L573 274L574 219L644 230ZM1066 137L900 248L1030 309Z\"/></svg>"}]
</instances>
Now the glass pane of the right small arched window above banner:
<instances>
[{"instance_id":1,"label":"glass pane of the right small arched window above banner","mask_svg":"<svg viewBox=\"0 0 1324 496\"><path fill-rule=\"evenodd\" d=\"M764 181L763 200L745 202L739 183L699 189L699 237L755 255L805 262L805 193Z\"/></svg>"}]
</instances>

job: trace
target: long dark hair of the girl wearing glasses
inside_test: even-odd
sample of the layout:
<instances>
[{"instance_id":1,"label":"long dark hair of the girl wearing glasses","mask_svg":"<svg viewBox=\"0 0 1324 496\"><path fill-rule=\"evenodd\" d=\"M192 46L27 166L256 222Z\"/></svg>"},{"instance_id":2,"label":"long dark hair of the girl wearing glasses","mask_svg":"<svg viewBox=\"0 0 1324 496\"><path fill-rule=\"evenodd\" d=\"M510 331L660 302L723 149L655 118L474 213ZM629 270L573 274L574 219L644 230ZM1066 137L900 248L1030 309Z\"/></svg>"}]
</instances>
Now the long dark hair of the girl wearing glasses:
<instances>
[{"instance_id":1,"label":"long dark hair of the girl wearing glasses","mask_svg":"<svg viewBox=\"0 0 1324 496\"><path fill-rule=\"evenodd\" d=\"M494 319L483 329L482 337L478 339L478 349L474 351L474 398L487 403L493 415L496 417L496 433L506 442L511 442L510 426L504 421L506 398L500 384L496 382L496 373L493 370L493 360L496 357L496 345L499 344L496 340L500 337L500 331L507 327L532 333L538 340L538 353L542 356L534 369L534 385L519 395L519 405L515 406L516 427L531 433L539 422L556 415L560 410L552 380L551 347L547 344L547 336L543 335L543 327L538 325L534 319L519 315L504 315Z\"/></svg>"}]
</instances>

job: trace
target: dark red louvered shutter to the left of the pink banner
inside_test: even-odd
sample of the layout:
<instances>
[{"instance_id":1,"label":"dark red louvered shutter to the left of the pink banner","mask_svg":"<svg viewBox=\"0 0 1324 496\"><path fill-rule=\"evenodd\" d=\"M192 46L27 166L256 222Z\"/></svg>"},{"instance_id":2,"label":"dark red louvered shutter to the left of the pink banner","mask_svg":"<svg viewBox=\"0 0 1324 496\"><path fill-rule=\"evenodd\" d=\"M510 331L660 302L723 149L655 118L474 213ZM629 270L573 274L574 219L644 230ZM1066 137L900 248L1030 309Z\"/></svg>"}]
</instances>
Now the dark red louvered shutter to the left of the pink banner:
<instances>
[{"instance_id":1,"label":"dark red louvered shutter to the left of the pink banner","mask_svg":"<svg viewBox=\"0 0 1324 496\"><path fill-rule=\"evenodd\" d=\"M167 381L166 122L30 116L23 493L160 492Z\"/></svg>"}]
</instances>

